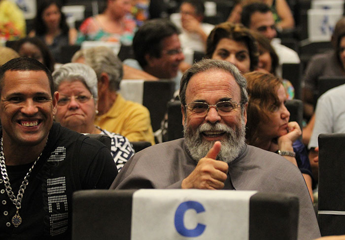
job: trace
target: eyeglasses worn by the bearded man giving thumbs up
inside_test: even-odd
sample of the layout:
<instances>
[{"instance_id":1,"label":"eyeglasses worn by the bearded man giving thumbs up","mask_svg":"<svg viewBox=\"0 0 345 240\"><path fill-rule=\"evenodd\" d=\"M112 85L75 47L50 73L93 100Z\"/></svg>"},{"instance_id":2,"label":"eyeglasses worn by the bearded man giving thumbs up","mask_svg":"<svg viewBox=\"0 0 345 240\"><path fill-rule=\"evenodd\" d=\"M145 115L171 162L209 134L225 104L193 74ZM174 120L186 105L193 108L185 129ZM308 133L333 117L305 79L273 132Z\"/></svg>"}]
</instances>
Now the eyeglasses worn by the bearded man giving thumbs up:
<instances>
[{"instance_id":1,"label":"eyeglasses worn by the bearded man giving thumbs up","mask_svg":"<svg viewBox=\"0 0 345 240\"><path fill-rule=\"evenodd\" d=\"M198 117L205 117L209 110L209 107L214 106L220 116L229 116L231 111L235 108L239 107L241 104L233 102L233 101L222 101L216 104L208 104L208 103L189 103L185 105L189 111L195 114Z\"/></svg>"}]
</instances>

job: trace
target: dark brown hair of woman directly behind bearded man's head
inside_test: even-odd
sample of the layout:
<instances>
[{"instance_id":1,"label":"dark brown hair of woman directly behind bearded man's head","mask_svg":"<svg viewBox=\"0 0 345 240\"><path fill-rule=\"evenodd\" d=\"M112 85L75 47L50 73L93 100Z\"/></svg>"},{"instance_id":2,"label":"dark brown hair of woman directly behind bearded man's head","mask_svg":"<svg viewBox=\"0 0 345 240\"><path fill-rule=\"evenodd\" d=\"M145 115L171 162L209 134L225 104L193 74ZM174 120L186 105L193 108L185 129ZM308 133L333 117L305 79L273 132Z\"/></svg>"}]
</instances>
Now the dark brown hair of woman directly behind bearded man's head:
<instances>
[{"instance_id":1,"label":"dark brown hair of woman directly behind bearded man's head","mask_svg":"<svg viewBox=\"0 0 345 240\"><path fill-rule=\"evenodd\" d=\"M214 27L207 37L206 42L206 57L212 58L212 55L223 38L229 38L237 42L243 42L249 51L250 70L256 69L259 63L259 51L256 39L251 34L251 31L245 28L242 24L233 24L229 22L218 24Z\"/></svg>"}]
</instances>

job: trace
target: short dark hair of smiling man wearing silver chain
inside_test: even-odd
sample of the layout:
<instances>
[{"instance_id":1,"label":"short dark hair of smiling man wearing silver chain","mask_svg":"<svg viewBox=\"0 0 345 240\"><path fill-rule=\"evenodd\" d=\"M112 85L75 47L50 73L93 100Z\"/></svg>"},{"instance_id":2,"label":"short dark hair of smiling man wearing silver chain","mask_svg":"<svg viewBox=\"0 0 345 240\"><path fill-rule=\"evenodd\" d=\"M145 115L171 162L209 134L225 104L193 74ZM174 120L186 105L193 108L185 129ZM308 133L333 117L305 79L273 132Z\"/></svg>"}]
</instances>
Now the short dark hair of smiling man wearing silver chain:
<instances>
[{"instance_id":1,"label":"short dark hair of smiling man wearing silver chain","mask_svg":"<svg viewBox=\"0 0 345 240\"><path fill-rule=\"evenodd\" d=\"M50 93L54 96L54 83L51 71L34 58L14 58L0 67L0 96L6 71L44 71L48 77Z\"/></svg>"}]
</instances>

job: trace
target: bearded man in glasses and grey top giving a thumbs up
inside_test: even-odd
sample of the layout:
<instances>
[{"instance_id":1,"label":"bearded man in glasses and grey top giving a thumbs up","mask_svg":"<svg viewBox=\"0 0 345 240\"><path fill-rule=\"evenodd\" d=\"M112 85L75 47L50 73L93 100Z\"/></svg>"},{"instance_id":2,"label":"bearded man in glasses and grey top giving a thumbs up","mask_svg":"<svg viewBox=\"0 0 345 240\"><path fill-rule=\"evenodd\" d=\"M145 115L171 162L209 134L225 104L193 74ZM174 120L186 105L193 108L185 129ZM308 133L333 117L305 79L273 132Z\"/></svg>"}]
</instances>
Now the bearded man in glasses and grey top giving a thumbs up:
<instances>
[{"instance_id":1,"label":"bearded man in glasses and grey top giving a thumbs up","mask_svg":"<svg viewBox=\"0 0 345 240\"><path fill-rule=\"evenodd\" d=\"M184 138L135 154L110 188L284 192L299 197L298 239L320 236L301 172L276 153L245 144L246 80L231 63L203 60L180 85Z\"/></svg>"}]
</instances>

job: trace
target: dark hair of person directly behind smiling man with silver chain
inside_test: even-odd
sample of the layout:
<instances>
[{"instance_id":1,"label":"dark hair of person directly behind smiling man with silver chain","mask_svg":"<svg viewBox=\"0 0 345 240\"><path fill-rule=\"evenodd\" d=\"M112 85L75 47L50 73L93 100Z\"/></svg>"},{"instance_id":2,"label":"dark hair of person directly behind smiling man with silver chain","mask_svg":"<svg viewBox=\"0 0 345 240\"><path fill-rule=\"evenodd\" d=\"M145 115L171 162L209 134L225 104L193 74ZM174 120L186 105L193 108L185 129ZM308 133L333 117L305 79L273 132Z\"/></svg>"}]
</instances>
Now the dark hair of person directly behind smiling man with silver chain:
<instances>
[{"instance_id":1,"label":"dark hair of person directly behind smiling man with silver chain","mask_svg":"<svg viewBox=\"0 0 345 240\"><path fill-rule=\"evenodd\" d=\"M55 60L53 58L53 55L51 54L48 46L38 37L35 36L35 37L26 37L26 38L19 39L14 43L13 49L19 53L21 46L26 42L34 44L36 47L38 47L38 49L41 51L42 56L43 56L43 64L51 72L53 72L54 71L54 64L55 64Z\"/></svg>"}]
</instances>

